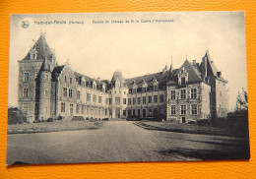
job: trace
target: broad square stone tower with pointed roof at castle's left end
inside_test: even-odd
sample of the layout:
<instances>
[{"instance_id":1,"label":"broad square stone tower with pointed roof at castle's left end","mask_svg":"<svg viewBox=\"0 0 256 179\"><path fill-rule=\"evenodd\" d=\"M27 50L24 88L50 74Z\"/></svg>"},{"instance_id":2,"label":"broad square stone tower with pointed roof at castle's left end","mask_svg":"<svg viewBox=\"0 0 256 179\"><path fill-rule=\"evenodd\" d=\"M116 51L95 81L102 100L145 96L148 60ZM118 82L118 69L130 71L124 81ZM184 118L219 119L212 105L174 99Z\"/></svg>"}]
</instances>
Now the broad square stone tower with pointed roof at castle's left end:
<instances>
[{"instance_id":1,"label":"broad square stone tower with pointed roof at castle's left end","mask_svg":"<svg viewBox=\"0 0 256 179\"><path fill-rule=\"evenodd\" d=\"M45 35L41 33L27 55L19 61L18 105L26 115L27 122L38 118L39 74L45 58L52 71L56 66L55 55L49 48Z\"/></svg>"}]
</instances>

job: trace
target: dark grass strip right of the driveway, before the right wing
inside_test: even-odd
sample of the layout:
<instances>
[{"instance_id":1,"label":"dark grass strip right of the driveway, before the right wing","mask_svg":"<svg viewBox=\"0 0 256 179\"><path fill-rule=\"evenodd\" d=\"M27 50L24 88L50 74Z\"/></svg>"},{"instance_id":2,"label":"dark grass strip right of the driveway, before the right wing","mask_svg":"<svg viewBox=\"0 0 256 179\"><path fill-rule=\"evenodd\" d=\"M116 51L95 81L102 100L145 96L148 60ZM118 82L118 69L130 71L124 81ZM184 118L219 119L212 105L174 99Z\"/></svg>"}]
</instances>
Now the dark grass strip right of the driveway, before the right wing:
<instances>
[{"instance_id":1,"label":"dark grass strip right of the driveway, before the right wing","mask_svg":"<svg viewBox=\"0 0 256 179\"><path fill-rule=\"evenodd\" d=\"M196 124L181 124L170 122L135 122L135 125L147 129L188 134L204 134L216 136L248 137L247 127L216 128L212 126L198 126Z\"/></svg>"}]
</instances>

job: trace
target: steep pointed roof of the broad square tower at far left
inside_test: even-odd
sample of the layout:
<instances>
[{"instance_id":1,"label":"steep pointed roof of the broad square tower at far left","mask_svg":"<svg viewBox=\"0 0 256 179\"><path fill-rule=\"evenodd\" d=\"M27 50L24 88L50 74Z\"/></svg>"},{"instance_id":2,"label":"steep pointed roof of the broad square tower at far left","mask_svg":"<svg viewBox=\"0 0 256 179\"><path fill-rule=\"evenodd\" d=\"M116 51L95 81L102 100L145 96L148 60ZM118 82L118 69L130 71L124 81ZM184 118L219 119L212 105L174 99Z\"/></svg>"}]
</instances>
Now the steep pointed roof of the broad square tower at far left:
<instances>
[{"instance_id":1,"label":"steep pointed roof of the broad square tower at far left","mask_svg":"<svg viewBox=\"0 0 256 179\"><path fill-rule=\"evenodd\" d=\"M36 50L36 59L50 59L53 55L45 37L41 34L37 41L33 44L31 50ZM25 56L23 60L30 60L30 52Z\"/></svg>"}]
</instances>

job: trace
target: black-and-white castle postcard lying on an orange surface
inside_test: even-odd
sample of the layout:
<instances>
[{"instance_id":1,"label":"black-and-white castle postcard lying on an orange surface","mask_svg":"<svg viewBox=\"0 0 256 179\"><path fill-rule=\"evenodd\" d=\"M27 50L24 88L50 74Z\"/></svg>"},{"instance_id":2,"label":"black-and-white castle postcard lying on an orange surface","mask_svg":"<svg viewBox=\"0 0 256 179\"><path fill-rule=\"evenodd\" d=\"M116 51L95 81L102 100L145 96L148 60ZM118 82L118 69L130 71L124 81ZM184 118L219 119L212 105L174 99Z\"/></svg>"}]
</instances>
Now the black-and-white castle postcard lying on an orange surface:
<instances>
[{"instance_id":1,"label":"black-and-white castle postcard lying on an orange surface","mask_svg":"<svg viewBox=\"0 0 256 179\"><path fill-rule=\"evenodd\" d=\"M250 158L244 12L10 19L8 165Z\"/></svg>"}]
</instances>

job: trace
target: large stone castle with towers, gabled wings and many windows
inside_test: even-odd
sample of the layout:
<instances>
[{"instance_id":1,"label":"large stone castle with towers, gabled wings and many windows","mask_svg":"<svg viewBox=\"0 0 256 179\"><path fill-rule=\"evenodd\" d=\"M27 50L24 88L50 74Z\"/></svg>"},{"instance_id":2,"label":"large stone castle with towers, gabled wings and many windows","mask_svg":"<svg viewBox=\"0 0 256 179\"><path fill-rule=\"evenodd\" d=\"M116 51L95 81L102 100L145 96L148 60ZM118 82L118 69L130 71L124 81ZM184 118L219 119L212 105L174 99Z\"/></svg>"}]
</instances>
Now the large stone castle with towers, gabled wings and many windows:
<instances>
[{"instance_id":1,"label":"large stone castle with towers, gabled wings and many windows","mask_svg":"<svg viewBox=\"0 0 256 179\"><path fill-rule=\"evenodd\" d=\"M187 123L224 117L227 81L207 51L202 62L185 60L178 69L125 79L120 71L111 81L58 66L45 36L40 35L19 61L19 108L28 122L73 116L85 118L159 117Z\"/></svg>"}]
</instances>

